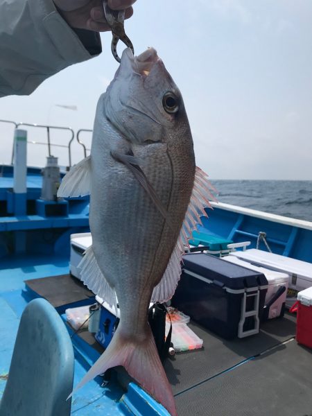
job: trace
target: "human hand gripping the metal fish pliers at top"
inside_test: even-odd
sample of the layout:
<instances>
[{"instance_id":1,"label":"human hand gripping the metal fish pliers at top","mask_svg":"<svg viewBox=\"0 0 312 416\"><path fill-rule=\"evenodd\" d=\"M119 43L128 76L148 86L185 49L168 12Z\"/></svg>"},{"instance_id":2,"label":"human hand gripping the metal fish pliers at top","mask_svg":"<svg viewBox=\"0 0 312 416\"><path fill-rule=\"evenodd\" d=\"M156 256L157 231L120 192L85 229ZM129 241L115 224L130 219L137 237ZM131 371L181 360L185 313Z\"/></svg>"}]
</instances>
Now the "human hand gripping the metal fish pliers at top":
<instances>
[{"instance_id":1,"label":"human hand gripping the metal fish pliers at top","mask_svg":"<svg viewBox=\"0 0 312 416\"><path fill-rule=\"evenodd\" d=\"M108 0L113 10L125 9L125 19L132 16L132 4L136 0ZM58 12L72 28L89 31L110 31L104 15L102 0L53 0Z\"/></svg>"}]
</instances>

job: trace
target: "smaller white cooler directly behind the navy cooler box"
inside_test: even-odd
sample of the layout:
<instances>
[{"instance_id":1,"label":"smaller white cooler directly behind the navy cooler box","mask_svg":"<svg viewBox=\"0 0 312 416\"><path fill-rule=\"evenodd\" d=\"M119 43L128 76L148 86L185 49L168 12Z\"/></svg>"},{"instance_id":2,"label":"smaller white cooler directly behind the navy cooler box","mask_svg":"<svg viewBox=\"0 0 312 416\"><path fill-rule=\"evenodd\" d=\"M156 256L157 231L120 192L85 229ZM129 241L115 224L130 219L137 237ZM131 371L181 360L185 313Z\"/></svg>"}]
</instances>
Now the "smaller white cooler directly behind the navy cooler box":
<instances>
[{"instance_id":1,"label":"smaller white cooler directly behind the navy cooler box","mask_svg":"<svg viewBox=\"0 0 312 416\"><path fill-rule=\"evenodd\" d=\"M286 303L286 294L288 290L288 279L289 276L286 273L276 272L275 270L269 270L264 267L254 266L253 264L247 263L238 257L234 256L225 256L223 260L230 261L231 263L238 264L239 266L249 268L259 273L263 273L268 280L268 291L266 293L266 299L264 304L268 304L272 300L273 296L277 291L281 290L280 288L285 287L284 292L273 302L266 313L263 314L263 318L272 319L278 318L279 316L284 315L285 303Z\"/></svg>"}]
</instances>

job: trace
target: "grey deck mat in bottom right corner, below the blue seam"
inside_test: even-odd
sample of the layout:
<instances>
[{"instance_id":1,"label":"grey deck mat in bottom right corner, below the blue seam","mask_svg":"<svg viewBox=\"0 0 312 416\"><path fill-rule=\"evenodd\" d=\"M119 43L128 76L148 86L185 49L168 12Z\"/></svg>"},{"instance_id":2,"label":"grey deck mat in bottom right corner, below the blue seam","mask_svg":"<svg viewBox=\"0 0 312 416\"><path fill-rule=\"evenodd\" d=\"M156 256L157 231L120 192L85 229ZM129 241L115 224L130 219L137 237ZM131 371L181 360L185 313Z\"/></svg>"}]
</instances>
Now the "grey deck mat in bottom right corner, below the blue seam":
<instances>
[{"instance_id":1,"label":"grey deck mat in bottom right corner, below the blue seam","mask_svg":"<svg viewBox=\"0 0 312 416\"><path fill-rule=\"evenodd\" d=\"M312 415L312 351L295 340L175 397L179 416Z\"/></svg>"}]
</instances>

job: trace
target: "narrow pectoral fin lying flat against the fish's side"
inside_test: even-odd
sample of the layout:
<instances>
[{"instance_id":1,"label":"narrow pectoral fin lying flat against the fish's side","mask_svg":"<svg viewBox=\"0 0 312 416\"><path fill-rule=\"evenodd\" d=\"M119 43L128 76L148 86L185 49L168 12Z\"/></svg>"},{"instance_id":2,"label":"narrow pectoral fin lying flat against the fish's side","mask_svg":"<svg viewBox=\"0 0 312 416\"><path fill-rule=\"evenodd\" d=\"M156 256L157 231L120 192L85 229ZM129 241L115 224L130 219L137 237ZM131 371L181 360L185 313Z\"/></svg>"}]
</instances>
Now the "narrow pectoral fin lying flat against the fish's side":
<instances>
[{"instance_id":1,"label":"narrow pectoral fin lying flat against the fish's side","mask_svg":"<svg viewBox=\"0 0 312 416\"><path fill-rule=\"evenodd\" d=\"M115 152L115 151L112 152L111 154L112 154L112 157L114 157L114 159L117 162L121 162L125 166L127 166L129 171L135 176L135 178L137 179L141 187L143 187L145 191L148 193L148 196L154 202L155 207L158 209L160 214L162 214L162 216L168 223L169 227L171 227L171 220L169 218L168 211L164 207L162 201L157 196L157 193L155 189L153 188L153 185L150 183L150 181L146 177L144 171L142 171L142 169L140 168L139 159L137 159L137 157L131 154L123 155L122 153Z\"/></svg>"}]
</instances>

